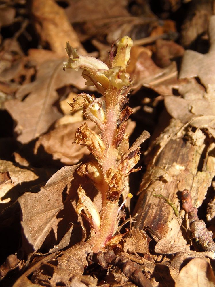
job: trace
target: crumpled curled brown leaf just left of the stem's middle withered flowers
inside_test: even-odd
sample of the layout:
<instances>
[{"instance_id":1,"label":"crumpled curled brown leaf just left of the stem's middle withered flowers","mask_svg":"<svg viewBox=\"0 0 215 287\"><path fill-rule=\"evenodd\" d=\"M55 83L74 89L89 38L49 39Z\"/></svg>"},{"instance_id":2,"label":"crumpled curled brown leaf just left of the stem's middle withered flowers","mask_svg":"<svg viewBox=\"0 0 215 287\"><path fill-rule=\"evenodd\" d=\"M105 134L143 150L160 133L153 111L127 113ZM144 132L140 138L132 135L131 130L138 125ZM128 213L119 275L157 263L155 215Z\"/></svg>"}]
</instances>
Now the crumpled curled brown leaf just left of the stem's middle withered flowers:
<instances>
[{"instance_id":1,"label":"crumpled curled brown leaf just left of the stem's middle withered flowers","mask_svg":"<svg viewBox=\"0 0 215 287\"><path fill-rule=\"evenodd\" d=\"M73 144L75 132L81 122L59 125L53 131L41 135L35 144L34 153L41 156L41 147L51 154L53 160L60 160L63 164L76 164L84 155L90 154L85 146ZM87 121L90 129L95 129L95 124ZM45 155L43 155L45 157Z\"/></svg>"}]
</instances>

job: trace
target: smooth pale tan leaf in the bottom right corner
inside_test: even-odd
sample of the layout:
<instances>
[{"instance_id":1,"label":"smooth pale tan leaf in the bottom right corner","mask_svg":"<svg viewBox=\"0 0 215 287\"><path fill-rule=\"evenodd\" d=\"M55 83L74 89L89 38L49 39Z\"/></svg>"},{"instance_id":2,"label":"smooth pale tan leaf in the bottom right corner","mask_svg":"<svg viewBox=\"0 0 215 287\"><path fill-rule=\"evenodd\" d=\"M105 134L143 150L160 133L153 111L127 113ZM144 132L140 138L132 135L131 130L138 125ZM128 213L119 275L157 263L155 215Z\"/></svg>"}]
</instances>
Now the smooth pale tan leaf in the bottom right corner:
<instances>
[{"instance_id":1,"label":"smooth pale tan leaf in the bottom right corner","mask_svg":"<svg viewBox=\"0 0 215 287\"><path fill-rule=\"evenodd\" d=\"M194 258L184 266L176 280L175 287L214 287L215 276L208 261Z\"/></svg>"}]
</instances>

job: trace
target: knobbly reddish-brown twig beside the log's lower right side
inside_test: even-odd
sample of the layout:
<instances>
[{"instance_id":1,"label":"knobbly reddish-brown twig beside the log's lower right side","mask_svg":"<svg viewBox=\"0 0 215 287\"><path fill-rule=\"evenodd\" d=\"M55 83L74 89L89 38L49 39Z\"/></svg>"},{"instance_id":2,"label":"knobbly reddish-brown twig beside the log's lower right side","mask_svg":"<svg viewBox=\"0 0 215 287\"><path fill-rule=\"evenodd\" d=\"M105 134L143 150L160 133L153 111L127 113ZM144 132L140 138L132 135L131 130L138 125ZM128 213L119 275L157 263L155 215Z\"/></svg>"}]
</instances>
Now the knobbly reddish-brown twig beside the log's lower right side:
<instances>
[{"instance_id":1,"label":"knobbly reddish-brown twig beside the log's lower right side","mask_svg":"<svg viewBox=\"0 0 215 287\"><path fill-rule=\"evenodd\" d=\"M191 193L187 189L182 191L182 203L182 208L188 214L193 239L199 242L205 251L215 252L215 243L212 239L213 232L208 231L205 222L198 218L198 210L193 206Z\"/></svg>"}]
</instances>

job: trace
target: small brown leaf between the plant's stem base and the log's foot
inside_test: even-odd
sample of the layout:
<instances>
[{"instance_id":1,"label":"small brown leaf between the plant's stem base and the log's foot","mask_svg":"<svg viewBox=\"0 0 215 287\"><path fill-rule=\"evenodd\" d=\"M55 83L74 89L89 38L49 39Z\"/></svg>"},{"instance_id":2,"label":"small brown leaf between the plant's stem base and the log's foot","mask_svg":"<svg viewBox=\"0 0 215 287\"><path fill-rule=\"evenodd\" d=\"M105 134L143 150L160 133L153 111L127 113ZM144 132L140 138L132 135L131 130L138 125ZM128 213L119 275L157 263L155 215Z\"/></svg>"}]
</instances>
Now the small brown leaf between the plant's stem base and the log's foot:
<instances>
[{"instance_id":1,"label":"small brown leaf between the plant's stem base and the log's foot","mask_svg":"<svg viewBox=\"0 0 215 287\"><path fill-rule=\"evenodd\" d=\"M124 243L124 251L129 253L146 253L149 252L146 235L143 230L132 228L128 238Z\"/></svg>"}]
</instances>

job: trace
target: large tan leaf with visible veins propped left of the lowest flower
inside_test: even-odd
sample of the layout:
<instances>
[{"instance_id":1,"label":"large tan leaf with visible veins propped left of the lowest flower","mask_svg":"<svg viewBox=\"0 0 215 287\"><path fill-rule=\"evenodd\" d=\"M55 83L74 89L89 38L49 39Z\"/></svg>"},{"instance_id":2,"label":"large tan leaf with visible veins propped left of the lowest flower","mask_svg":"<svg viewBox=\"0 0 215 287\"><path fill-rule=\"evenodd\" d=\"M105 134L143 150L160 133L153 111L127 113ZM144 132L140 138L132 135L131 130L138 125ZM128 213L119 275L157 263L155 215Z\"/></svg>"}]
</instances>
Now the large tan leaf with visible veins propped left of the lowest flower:
<instances>
[{"instance_id":1,"label":"large tan leaf with visible veins propped left of the lowest flower","mask_svg":"<svg viewBox=\"0 0 215 287\"><path fill-rule=\"evenodd\" d=\"M61 168L38 193L26 192L18 199L22 210L23 249L27 252L37 251L53 226L61 220L56 216L64 207L63 191L70 187L77 167ZM57 238L57 230L54 232Z\"/></svg>"}]
</instances>

